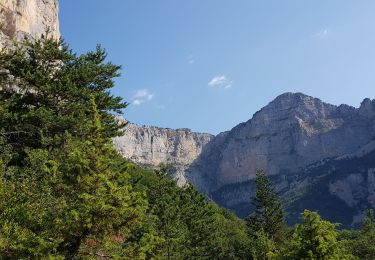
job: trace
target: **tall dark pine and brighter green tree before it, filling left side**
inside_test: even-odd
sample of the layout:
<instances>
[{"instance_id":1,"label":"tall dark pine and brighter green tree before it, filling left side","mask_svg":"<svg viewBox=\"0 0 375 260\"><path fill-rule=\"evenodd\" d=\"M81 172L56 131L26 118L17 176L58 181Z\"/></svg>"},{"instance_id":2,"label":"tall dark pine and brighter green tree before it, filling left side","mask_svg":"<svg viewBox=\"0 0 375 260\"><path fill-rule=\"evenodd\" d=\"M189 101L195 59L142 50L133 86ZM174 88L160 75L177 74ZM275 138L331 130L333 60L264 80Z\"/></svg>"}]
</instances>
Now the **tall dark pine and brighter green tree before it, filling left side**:
<instances>
[{"instance_id":1,"label":"tall dark pine and brighter green tree before it, filling left side","mask_svg":"<svg viewBox=\"0 0 375 260\"><path fill-rule=\"evenodd\" d=\"M48 37L0 53L0 255L94 255L140 223L147 203L113 160L127 104L109 92L120 67L105 59Z\"/></svg>"}]
</instances>

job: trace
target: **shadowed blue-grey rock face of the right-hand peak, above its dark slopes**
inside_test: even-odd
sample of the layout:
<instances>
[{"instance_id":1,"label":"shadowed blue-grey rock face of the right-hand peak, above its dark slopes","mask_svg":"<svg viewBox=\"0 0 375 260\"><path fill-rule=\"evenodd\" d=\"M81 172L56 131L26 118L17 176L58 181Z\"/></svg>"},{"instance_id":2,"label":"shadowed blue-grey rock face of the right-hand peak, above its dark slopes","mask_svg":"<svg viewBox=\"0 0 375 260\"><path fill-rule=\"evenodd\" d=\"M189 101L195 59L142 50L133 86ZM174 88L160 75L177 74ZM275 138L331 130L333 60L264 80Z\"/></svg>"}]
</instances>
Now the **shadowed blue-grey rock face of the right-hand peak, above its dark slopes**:
<instances>
[{"instance_id":1,"label":"shadowed blue-grey rock face of the right-hand peak, above its dark slopes","mask_svg":"<svg viewBox=\"0 0 375 260\"><path fill-rule=\"evenodd\" d=\"M187 171L210 193L255 177L294 172L326 158L352 153L375 137L375 101L360 108L326 104L301 93L285 93L252 119L215 137Z\"/></svg>"}]
</instances>

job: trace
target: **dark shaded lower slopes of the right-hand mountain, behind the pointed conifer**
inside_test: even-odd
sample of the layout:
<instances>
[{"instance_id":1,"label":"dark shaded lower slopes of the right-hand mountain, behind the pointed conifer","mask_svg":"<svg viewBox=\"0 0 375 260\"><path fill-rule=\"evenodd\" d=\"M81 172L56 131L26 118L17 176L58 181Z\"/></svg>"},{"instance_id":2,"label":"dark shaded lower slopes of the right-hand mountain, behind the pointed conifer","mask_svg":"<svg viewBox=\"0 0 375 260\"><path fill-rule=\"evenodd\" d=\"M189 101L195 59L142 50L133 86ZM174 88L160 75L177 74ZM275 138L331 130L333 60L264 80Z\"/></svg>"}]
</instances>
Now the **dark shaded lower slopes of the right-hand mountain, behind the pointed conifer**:
<instances>
[{"instance_id":1,"label":"dark shaded lower slopes of the right-hand mountain, behind the pointed conifer","mask_svg":"<svg viewBox=\"0 0 375 260\"><path fill-rule=\"evenodd\" d=\"M323 218L355 227L369 208L375 208L375 141L354 153L324 159L295 172L270 176L294 224L304 209ZM254 180L224 185L208 196L245 217L253 210Z\"/></svg>"}]
</instances>

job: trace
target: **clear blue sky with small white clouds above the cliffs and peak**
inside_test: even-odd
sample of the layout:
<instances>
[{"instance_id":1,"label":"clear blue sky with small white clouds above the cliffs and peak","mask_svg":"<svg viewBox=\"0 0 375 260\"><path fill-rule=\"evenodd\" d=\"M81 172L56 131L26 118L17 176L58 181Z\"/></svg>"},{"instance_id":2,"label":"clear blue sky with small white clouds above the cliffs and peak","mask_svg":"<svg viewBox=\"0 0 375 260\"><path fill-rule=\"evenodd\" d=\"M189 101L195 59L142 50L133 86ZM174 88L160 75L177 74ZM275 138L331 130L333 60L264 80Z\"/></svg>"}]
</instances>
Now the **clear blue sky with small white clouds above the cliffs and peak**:
<instances>
[{"instance_id":1,"label":"clear blue sky with small white clouds above the cliffs and peak","mask_svg":"<svg viewBox=\"0 0 375 260\"><path fill-rule=\"evenodd\" d=\"M217 134L284 92L375 96L375 1L60 0L77 52L123 66L131 122Z\"/></svg>"}]
</instances>

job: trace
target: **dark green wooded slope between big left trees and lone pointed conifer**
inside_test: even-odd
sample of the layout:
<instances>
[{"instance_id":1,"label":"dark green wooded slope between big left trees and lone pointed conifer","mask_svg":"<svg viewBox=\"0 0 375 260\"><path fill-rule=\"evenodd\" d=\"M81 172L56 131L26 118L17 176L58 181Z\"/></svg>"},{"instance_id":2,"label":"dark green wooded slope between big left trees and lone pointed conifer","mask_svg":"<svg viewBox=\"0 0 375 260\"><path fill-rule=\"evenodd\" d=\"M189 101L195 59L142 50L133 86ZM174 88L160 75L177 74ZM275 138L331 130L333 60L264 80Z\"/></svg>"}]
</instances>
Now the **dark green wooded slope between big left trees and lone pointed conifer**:
<instances>
[{"instance_id":1,"label":"dark green wooded slope between big left trees and lone pointed conifer","mask_svg":"<svg viewBox=\"0 0 375 260\"><path fill-rule=\"evenodd\" d=\"M218 208L193 187L177 187L163 172L133 174L134 189L146 191L150 204L147 228L141 227L133 236L134 244L145 235L153 237L156 244L149 247L147 259L250 257L244 221Z\"/></svg>"}]
</instances>

